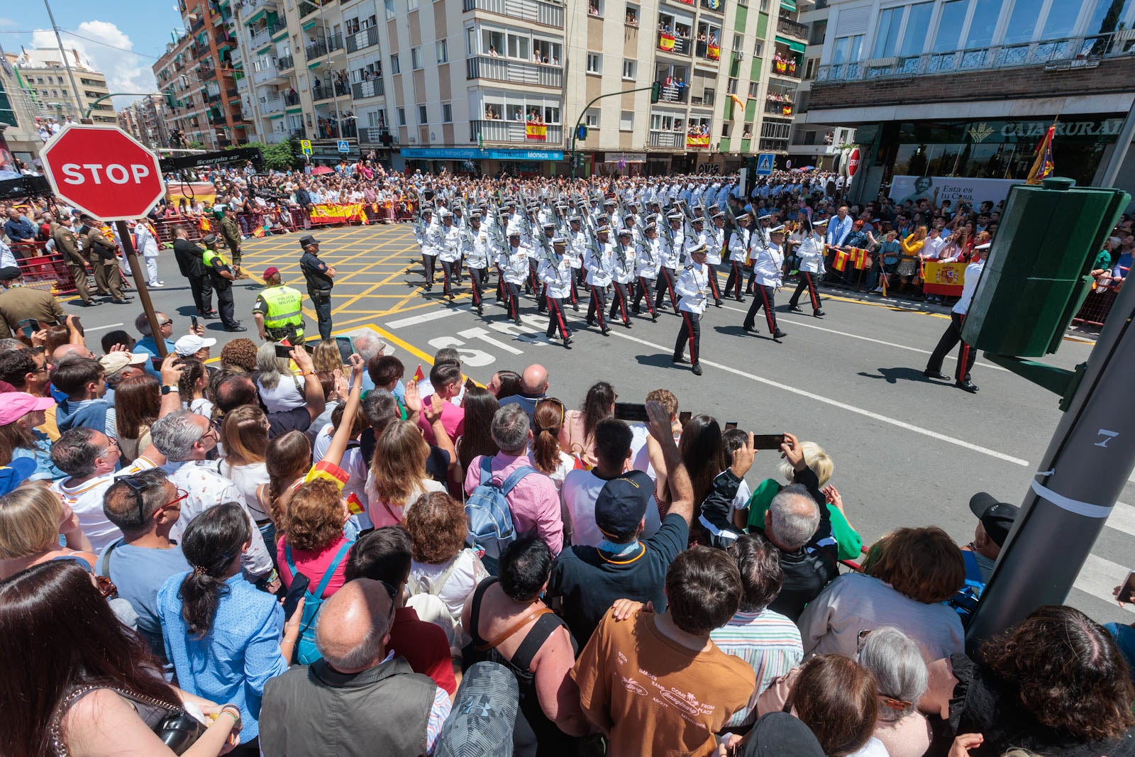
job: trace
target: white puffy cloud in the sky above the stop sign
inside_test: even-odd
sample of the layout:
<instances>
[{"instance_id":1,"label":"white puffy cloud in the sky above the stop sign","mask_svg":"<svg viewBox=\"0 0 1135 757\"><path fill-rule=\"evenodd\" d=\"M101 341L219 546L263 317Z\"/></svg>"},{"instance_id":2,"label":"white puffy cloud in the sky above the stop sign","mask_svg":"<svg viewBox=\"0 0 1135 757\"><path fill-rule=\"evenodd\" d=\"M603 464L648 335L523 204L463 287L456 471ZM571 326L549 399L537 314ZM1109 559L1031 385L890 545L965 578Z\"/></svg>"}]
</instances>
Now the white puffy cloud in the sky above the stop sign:
<instances>
[{"instance_id":1,"label":"white puffy cloud in the sky above the stop sign","mask_svg":"<svg viewBox=\"0 0 1135 757\"><path fill-rule=\"evenodd\" d=\"M83 22L70 31L87 39L65 33L64 48L68 52L73 48L78 50L84 61L106 75L111 92L153 92L157 89L149 59L126 52L134 49L134 42L115 24ZM51 30L36 30L32 34L31 47L57 49L56 35ZM134 100L137 98L115 98L115 107L120 108Z\"/></svg>"}]
</instances>

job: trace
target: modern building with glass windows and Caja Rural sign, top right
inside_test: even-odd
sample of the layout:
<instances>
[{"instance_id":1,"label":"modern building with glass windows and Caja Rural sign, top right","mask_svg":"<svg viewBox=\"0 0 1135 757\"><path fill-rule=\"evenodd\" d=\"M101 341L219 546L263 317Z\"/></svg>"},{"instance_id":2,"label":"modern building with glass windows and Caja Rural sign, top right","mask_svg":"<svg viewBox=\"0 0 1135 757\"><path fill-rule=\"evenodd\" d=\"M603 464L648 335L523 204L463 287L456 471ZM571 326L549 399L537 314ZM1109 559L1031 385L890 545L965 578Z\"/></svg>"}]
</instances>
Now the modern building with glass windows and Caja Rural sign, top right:
<instances>
[{"instance_id":1,"label":"modern building with glass windows and Caja Rural sign, top right","mask_svg":"<svg viewBox=\"0 0 1135 757\"><path fill-rule=\"evenodd\" d=\"M1102 177L1135 100L1132 0L827 6L805 118L857 127L852 197L1003 196L1052 124L1056 173L1083 185ZM1128 192L1130 155L1118 183Z\"/></svg>"}]
</instances>

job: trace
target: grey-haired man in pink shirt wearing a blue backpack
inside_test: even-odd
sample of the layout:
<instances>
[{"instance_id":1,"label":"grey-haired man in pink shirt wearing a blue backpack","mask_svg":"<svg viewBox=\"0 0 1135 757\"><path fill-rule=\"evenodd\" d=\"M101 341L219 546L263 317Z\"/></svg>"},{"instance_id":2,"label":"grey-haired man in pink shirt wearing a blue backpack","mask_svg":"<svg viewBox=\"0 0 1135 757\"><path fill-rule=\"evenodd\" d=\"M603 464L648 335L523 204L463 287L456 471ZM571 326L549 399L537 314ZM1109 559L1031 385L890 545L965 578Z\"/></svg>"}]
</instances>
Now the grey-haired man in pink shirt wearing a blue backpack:
<instances>
[{"instance_id":1,"label":"grey-haired man in pink shirt wearing a blue backpack","mask_svg":"<svg viewBox=\"0 0 1135 757\"><path fill-rule=\"evenodd\" d=\"M465 494L482 482L501 487L513 471L529 468L527 474L505 495L516 533L535 532L544 539L554 554L564 546L564 523L560 515L560 493L544 473L531 468L528 443L532 429L528 414L520 405L504 405L493 417L489 429L501 452L488 457L473 457L465 472Z\"/></svg>"}]
</instances>

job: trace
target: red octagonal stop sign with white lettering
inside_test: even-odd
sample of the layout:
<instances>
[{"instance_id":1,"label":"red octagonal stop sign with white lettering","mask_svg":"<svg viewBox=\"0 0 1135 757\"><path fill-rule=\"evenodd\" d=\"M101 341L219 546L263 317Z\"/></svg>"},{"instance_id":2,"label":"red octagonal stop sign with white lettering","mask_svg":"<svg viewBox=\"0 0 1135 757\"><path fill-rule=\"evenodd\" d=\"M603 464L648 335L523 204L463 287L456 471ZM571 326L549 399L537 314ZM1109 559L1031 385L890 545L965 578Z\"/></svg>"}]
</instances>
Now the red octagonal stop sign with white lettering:
<instances>
[{"instance_id":1,"label":"red octagonal stop sign with white lettering","mask_svg":"<svg viewBox=\"0 0 1135 757\"><path fill-rule=\"evenodd\" d=\"M166 193L158 157L117 126L67 126L40 160L56 195L99 220L141 218Z\"/></svg>"}]
</instances>

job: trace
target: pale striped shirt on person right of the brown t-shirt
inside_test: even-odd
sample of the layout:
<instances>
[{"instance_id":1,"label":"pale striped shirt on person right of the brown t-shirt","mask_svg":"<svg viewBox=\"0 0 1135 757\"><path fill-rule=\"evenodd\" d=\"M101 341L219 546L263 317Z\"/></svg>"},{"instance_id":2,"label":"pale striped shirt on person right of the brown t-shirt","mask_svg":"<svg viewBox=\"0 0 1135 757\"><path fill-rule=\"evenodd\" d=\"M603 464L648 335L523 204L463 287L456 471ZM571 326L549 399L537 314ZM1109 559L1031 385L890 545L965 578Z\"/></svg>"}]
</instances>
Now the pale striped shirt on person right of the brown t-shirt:
<instances>
[{"instance_id":1,"label":"pale striped shirt on person right of the brown t-shirt","mask_svg":"<svg viewBox=\"0 0 1135 757\"><path fill-rule=\"evenodd\" d=\"M804 645L796 623L784 615L764 609L758 613L737 611L709 638L726 655L740 657L753 666L757 676L749 704L733 713L725 727L750 725L757 718L757 697L773 679L785 675L804 659Z\"/></svg>"}]
</instances>

